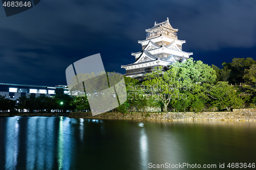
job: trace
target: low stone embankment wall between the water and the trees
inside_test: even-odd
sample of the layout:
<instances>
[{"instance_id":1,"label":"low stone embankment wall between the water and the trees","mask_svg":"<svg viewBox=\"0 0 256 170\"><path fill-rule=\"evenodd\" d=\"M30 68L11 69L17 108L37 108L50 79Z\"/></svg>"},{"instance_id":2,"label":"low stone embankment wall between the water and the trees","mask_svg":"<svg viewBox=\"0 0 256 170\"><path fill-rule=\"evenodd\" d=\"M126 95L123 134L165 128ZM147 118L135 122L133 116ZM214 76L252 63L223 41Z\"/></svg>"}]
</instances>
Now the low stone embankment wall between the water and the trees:
<instances>
[{"instance_id":1,"label":"low stone embankment wall between the water and the trees","mask_svg":"<svg viewBox=\"0 0 256 170\"><path fill-rule=\"evenodd\" d=\"M108 112L93 116L90 112L70 113L70 118L137 120L256 120L256 109L233 109L232 112Z\"/></svg>"}]
</instances>

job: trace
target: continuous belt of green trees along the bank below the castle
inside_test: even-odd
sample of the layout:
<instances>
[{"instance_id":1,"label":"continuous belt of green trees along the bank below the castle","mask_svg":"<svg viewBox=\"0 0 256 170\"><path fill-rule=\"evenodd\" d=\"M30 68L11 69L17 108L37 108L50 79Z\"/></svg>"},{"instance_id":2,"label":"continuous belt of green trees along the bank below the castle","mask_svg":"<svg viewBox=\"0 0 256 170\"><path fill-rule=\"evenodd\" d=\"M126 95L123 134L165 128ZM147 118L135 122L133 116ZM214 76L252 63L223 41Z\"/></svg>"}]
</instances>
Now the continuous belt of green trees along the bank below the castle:
<instances>
[{"instance_id":1,"label":"continuous belt of green trees along the bank below the castle","mask_svg":"<svg viewBox=\"0 0 256 170\"><path fill-rule=\"evenodd\" d=\"M136 79L124 76L127 100L112 111L127 112L132 108L146 111L148 107L154 106L162 107L163 111L172 109L195 112L210 108L230 111L231 108L256 107L256 61L252 58L234 58L231 63L223 63L222 66L220 69L215 65L208 66L202 61L189 58L184 63L176 62L168 67L156 67L153 72L145 75L142 84ZM99 95L95 93L95 89L96 92L100 92L121 80L118 74L107 75L107 77L100 75L96 77L94 73L77 75L78 80L87 79L86 89L91 91L90 100L96 99ZM235 83L246 83L246 85L232 86ZM82 96L71 97L60 90L51 98L45 95L37 98L21 96L17 101L13 101L0 95L0 110L2 112L8 110L23 112L25 109L30 112L51 112L56 109L63 112L91 110L87 96L84 96L86 93L83 85L80 83L74 88L80 91ZM120 90L117 87L115 92ZM111 91L107 95L112 96L115 92ZM126 95L125 92L121 94ZM123 96L118 94L117 99ZM108 98L103 102L112 103Z\"/></svg>"}]
</instances>

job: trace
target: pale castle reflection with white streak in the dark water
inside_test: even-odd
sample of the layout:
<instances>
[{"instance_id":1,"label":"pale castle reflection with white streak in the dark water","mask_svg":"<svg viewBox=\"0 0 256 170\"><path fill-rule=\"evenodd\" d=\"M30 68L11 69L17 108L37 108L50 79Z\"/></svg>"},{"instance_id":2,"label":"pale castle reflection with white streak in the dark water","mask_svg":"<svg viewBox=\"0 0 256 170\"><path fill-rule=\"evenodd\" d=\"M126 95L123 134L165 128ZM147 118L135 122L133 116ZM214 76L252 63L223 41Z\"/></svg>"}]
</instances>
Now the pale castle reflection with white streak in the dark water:
<instances>
[{"instance_id":1,"label":"pale castle reflection with white streak in the dark water","mask_svg":"<svg viewBox=\"0 0 256 170\"><path fill-rule=\"evenodd\" d=\"M187 160L182 147L182 135L167 122L144 122L140 127L141 168L148 169L148 163L179 164Z\"/></svg>"}]
</instances>

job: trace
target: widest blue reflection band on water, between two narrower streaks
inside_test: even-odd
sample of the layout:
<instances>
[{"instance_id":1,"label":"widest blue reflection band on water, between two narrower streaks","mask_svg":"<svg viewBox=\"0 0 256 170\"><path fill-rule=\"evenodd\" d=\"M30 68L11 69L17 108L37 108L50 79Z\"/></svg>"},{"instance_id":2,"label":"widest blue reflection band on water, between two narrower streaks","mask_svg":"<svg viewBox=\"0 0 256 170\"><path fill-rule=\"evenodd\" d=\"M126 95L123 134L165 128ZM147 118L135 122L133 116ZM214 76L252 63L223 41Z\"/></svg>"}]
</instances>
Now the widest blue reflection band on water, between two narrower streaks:
<instances>
[{"instance_id":1,"label":"widest blue reflection band on water, between two narrower streaks","mask_svg":"<svg viewBox=\"0 0 256 170\"><path fill-rule=\"evenodd\" d=\"M54 150L54 119L28 117L26 169L52 169Z\"/></svg>"}]
</instances>

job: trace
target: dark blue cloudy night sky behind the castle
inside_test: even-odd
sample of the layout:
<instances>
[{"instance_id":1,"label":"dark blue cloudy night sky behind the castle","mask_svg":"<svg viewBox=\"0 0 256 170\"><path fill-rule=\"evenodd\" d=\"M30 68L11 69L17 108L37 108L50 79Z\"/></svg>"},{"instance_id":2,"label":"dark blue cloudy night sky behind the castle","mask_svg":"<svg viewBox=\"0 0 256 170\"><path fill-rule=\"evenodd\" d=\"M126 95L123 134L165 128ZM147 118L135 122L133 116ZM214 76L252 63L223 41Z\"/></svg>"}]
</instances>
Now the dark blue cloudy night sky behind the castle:
<instances>
[{"instance_id":1,"label":"dark blue cloudy night sky behind the castle","mask_svg":"<svg viewBox=\"0 0 256 170\"><path fill-rule=\"evenodd\" d=\"M120 66L135 61L145 29L167 17L195 60L221 67L256 59L254 0L41 0L9 17L0 8L0 82L65 85L66 68L97 53L106 71L124 74Z\"/></svg>"}]
</instances>

